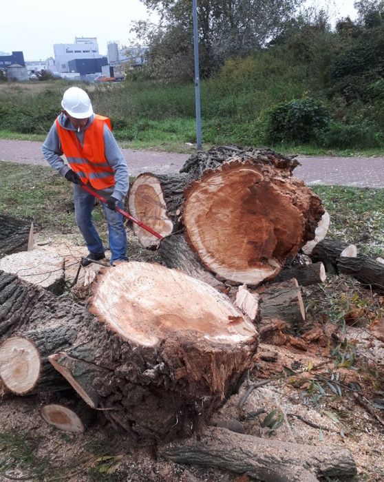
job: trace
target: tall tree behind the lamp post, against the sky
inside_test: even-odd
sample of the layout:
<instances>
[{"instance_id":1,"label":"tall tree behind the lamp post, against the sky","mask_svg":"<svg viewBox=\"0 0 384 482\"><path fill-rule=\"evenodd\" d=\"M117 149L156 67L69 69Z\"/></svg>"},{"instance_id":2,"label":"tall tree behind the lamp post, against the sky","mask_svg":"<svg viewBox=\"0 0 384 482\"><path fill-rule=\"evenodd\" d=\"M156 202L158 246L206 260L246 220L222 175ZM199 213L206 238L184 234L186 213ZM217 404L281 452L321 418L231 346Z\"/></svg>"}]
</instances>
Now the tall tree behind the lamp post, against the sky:
<instances>
[{"instance_id":1,"label":"tall tree behind the lamp post, against the sky","mask_svg":"<svg viewBox=\"0 0 384 482\"><path fill-rule=\"evenodd\" d=\"M191 0L142 0L160 23L138 22L133 31L149 45L150 78L193 78ZM302 0L198 0L201 76L216 72L233 56L247 56L266 45L292 18Z\"/></svg>"}]
</instances>

